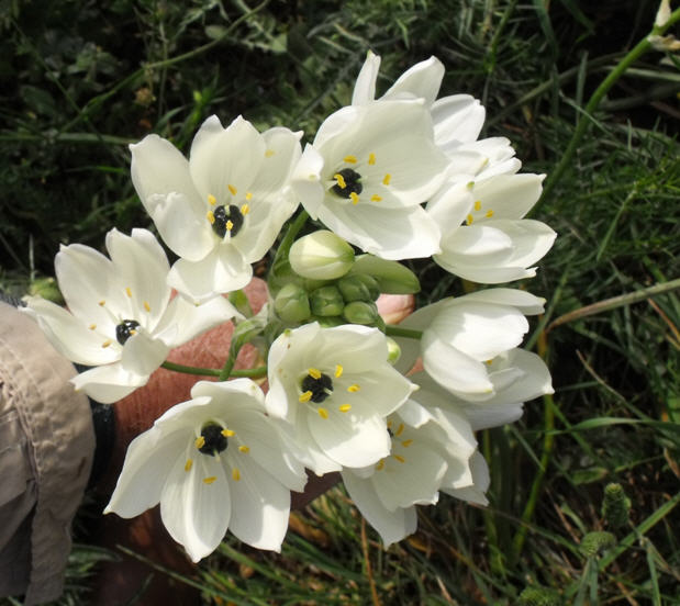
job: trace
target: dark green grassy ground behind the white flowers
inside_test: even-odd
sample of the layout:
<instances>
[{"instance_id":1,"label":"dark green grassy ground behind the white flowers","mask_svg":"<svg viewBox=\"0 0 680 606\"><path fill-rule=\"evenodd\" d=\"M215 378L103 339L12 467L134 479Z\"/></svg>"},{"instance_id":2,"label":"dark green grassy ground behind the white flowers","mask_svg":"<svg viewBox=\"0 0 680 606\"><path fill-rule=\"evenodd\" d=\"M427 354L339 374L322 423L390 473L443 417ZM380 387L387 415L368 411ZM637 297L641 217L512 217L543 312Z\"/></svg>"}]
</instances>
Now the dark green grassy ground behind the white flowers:
<instances>
[{"instance_id":1,"label":"dark green grassy ground behind the white flowers","mask_svg":"<svg viewBox=\"0 0 680 606\"><path fill-rule=\"evenodd\" d=\"M207 603L680 603L678 60L649 50L589 104L656 4L1 2L4 289L49 290L59 243L101 247L113 225L148 226L126 143L156 132L186 150L212 113L311 138L348 103L368 48L382 90L437 55L443 92L486 104L487 136L509 137L526 171L565 169L533 213L559 238L524 284L548 300L527 347L556 393L479 436L491 505L443 496L386 551L334 489L297 516L280 556L227 539L201 564ZM417 269L431 296L469 287ZM64 604L86 602L98 558L76 548Z\"/></svg>"}]
</instances>

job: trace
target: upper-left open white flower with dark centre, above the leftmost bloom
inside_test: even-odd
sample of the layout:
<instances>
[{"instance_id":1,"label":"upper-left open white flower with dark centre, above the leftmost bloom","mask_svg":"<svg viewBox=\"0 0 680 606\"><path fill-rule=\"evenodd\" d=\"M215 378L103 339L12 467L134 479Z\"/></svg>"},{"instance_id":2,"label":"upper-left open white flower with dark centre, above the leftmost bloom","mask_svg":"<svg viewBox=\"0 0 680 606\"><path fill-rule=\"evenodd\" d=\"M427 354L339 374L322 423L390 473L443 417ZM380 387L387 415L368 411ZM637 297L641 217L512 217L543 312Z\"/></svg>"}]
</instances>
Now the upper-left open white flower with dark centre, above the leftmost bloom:
<instances>
[{"instance_id":1,"label":"upper-left open white flower with dark centre, above the leftmost bloom","mask_svg":"<svg viewBox=\"0 0 680 606\"><path fill-rule=\"evenodd\" d=\"M165 243L181 257L169 284L196 301L241 289L298 203L288 187L301 133L259 134L241 116L203 122L190 159L157 135L131 146L132 180Z\"/></svg>"}]
</instances>

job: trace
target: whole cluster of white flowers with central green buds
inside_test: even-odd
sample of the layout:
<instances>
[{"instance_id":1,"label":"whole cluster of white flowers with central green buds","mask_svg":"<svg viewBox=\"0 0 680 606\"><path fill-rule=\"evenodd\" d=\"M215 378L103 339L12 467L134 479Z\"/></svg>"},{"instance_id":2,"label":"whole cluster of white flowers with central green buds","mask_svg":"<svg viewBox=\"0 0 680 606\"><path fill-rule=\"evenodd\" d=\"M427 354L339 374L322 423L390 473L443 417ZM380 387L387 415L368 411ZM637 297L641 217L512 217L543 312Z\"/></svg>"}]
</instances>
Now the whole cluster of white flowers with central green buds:
<instances>
[{"instance_id":1,"label":"whole cluster of white flowers with central green buds","mask_svg":"<svg viewBox=\"0 0 680 606\"><path fill-rule=\"evenodd\" d=\"M501 284L534 276L555 233L524 218L544 176L519 173L508 139L478 139L477 100L437 99L439 60L413 66L376 99L379 64L369 53L352 105L304 150L302 133L258 133L241 116L226 128L209 117L189 159L156 135L132 145L133 183L179 259L170 267L146 229L112 229L109 258L79 244L57 254L68 311L26 300L55 347L91 367L73 382L100 402L160 366L218 379L197 383L130 445L105 509L133 517L160 503L193 561L227 529L278 551L305 469L341 472L386 545L413 532L415 505L441 491L483 505L489 473L475 430L516 420L523 402L551 393L544 362L519 348L525 316L544 304L523 290L444 299L399 325L381 317L381 294L420 290L401 260L432 257L466 280ZM310 220L325 229L299 237ZM248 317L224 294L250 282L282 229L270 301ZM225 322L235 332L223 368L166 361ZM266 367L246 378L233 368L254 339Z\"/></svg>"}]
</instances>

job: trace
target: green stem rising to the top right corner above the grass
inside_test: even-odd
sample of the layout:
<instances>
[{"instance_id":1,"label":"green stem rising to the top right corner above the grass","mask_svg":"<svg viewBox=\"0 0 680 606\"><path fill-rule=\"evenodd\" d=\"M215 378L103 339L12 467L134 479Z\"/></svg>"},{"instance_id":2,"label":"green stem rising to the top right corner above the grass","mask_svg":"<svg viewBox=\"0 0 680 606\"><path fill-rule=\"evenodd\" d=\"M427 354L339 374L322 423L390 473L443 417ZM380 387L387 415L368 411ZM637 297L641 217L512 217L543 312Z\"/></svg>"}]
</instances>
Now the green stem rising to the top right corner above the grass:
<instances>
[{"instance_id":1,"label":"green stem rising to the top right corner above the grass","mask_svg":"<svg viewBox=\"0 0 680 606\"><path fill-rule=\"evenodd\" d=\"M664 25L655 25L651 29L651 32L647 34L643 40L640 40L635 47L621 60L621 63L612 70L612 72L602 81L602 83L598 87L595 92L593 92L592 97L588 101L588 104L583 109L583 116L579 120L573 135L571 136L571 141L567 146L567 149L562 154L561 160L555 168L555 170L550 173L548 179L546 180L545 188L543 190L543 195L540 200L534 205L533 212L536 211L538 204L543 201L547 200L553 193L553 190L559 182L560 178L567 170L567 167L570 165L573 155L586 134L586 130L590 125L591 116L594 111L600 105L604 96L609 92L609 90L614 86L616 80L621 78L625 71L631 67L637 59L639 59L647 50L651 48L651 43L649 42L649 37L653 35L662 35L671 25L676 22L680 21L680 9L676 9L670 19Z\"/></svg>"}]
</instances>

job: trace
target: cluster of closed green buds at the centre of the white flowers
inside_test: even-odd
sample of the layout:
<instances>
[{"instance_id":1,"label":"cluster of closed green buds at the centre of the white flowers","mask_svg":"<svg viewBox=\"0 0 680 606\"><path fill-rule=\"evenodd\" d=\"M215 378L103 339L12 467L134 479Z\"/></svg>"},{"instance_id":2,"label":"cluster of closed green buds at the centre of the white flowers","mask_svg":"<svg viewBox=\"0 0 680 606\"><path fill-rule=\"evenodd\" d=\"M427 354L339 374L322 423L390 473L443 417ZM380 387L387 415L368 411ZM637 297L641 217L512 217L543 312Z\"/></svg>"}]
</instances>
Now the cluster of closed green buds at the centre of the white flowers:
<instances>
[{"instance_id":1,"label":"cluster of closed green buds at the centre of the white flowers","mask_svg":"<svg viewBox=\"0 0 680 606\"><path fill-rule=\"evenodd\" d=\"M415 274L401 263L360 255L333 232L321 229L297 240L288 257L289 273L277 292L274 310L288 325L361 324L384 330L376 300L380 293L420 290Z\"/></svg>"}]
</instances>

